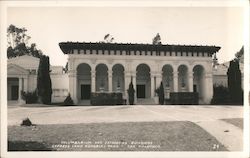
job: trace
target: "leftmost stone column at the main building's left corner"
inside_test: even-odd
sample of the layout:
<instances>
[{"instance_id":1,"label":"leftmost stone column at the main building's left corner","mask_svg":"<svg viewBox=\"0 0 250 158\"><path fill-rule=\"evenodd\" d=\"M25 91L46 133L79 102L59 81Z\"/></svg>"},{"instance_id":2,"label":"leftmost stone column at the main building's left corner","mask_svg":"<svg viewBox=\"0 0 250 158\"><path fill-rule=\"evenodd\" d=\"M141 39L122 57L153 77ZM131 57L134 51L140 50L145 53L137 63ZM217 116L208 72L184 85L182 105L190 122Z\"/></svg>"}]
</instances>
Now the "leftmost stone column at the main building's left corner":
<instances>
[{"instance_id":1,"label":"leftmost stone column at the main building's left corner","mask_svg":"<svg viewBox=\"0 0 250 158\"><path fill-rule=\"evenodd\" d=\"M77 74L76 70L69 71L69 93L74 103L78 103L77 99Z\"/></svg>"}]
</instances>

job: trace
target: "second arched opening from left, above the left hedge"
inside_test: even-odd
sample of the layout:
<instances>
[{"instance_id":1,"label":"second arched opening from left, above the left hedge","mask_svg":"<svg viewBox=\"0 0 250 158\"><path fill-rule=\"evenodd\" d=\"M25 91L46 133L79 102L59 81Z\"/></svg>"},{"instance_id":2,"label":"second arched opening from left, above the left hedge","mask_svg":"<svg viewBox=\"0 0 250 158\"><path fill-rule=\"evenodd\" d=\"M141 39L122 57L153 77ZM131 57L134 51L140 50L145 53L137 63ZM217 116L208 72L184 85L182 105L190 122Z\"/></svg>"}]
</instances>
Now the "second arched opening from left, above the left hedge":
<instances>
[{"instance_id":1,"label":"second arched opening from left, above the left hedge","mask_svg":"<svg viewBox=\"0 0 250 158\"><path fill-rule=\"evenodd\" d=\"M106 64L98 64L96 71L96 91L108 91L108 66Z\"/></svg>"}]
</instances>

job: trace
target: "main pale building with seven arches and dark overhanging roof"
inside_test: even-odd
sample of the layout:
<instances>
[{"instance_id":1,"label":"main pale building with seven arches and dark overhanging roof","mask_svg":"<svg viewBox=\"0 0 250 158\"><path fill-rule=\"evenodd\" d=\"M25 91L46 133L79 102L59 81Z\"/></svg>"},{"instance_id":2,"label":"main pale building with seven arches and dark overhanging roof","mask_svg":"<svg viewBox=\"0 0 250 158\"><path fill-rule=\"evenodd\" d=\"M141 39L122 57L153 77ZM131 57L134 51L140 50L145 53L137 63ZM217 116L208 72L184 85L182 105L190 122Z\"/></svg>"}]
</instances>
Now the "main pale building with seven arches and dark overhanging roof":
<instances>
[{"instance_id":1,"label":"main pale building with seven arches and dark overhanging roof","mask_svg":"<svg viewBox=\"0 0 250 158\"><path fill-rule=\"evenodd\" d=\"M117 43L59 44L68 55L69 93L75 103L90 99L91 92L121 92L129 83L135 103L156 104L155 90L163 82L165 97L171 92L198 92L200 104L213 96L212 55L216 46Z\"/></svg>"}]
</instances>

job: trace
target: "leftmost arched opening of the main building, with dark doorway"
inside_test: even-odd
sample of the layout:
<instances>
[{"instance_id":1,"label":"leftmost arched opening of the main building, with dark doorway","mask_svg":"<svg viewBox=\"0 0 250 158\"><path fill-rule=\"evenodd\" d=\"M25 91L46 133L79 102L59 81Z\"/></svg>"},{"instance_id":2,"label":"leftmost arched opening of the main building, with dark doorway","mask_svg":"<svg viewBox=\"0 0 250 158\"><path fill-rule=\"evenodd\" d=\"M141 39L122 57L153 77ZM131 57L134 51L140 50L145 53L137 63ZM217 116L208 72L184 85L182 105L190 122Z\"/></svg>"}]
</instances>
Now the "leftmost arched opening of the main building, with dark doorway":
<instances>
[{"instance_id":1,"label":"leftmost arched opening of the main building, with dark doorway","mask_svg":"<svg viewBox=\"0 0 250 158\"><path fill-rule=\"evenodd\" d=\"M91 67L82 63L77 67L77 99L89 100L91 94Z\"/></svg>"}]
</instances>

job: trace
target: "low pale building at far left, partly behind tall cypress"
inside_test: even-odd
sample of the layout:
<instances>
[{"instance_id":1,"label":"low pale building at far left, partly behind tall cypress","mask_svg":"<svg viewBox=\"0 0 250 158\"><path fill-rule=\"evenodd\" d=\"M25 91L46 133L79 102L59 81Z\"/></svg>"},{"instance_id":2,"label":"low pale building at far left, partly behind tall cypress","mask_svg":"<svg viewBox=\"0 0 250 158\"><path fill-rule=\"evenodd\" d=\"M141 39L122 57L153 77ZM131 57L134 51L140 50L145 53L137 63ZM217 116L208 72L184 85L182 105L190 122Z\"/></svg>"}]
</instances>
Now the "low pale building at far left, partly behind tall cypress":
<instances>
[{"instance_id":1,"label":"low pale building at far left, partly behind tall cypress","mask_svg":"<svg viewBox=\"0 0 250 158\"><path fill-rule=\"evenodd\" d=\"M24 55L8 59L7 99L22 102L21 91L33 92L37 86L39 58ZM62 66L51 66L52 102L61 102L68 95L68 75Z\"/></svg>"}]
</instances>

